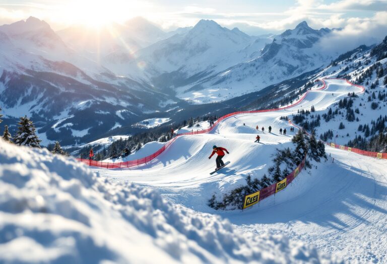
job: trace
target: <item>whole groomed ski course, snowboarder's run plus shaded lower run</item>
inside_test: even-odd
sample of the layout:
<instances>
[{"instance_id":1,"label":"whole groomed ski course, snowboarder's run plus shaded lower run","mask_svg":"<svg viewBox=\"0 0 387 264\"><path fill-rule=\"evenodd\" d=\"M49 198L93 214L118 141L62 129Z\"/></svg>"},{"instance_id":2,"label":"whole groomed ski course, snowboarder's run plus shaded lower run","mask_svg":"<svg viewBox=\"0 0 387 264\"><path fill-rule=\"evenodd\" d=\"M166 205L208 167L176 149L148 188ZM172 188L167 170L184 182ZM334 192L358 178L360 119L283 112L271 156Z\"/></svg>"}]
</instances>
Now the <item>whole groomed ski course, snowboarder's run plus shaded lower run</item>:
<instances>
[{"instance_id":1,"label":"whole groomed ski course, snowboarder's run plus shaded lower run","mask_svg":"<svg viewBox=\"0 0 387 264\"><path fill-rule=\"evenodd\" d=\"M348 93L360 89L345 80L327 79L324 90L314 86L297 105L286 110L241 114L223 120L209 134L181 136L148 164L130 169L95 168L117 182L157 188L166 198L197 211L219 214L242 230L262 233L270 229L315 244L350 262L387 262L386 160L376 160L331 147L327 162L301 172L280 193L243 212L215 211L207 206L214 193L223 193L245 183L248 174L260 178L271 165L276 148L292 147L287 121L280 117L298 110L325 110ZM259 126L260 131L256 130ZM272 126L272 133L268 127ZM265 127L265 132L261 128ZM286 128L287 135L279 129ZM327 128L328 130L328 128ZM261 143L253 143L256 134ZM218 173L212 146L230 151L231 163Z\"/></svg>"}]
</instances>

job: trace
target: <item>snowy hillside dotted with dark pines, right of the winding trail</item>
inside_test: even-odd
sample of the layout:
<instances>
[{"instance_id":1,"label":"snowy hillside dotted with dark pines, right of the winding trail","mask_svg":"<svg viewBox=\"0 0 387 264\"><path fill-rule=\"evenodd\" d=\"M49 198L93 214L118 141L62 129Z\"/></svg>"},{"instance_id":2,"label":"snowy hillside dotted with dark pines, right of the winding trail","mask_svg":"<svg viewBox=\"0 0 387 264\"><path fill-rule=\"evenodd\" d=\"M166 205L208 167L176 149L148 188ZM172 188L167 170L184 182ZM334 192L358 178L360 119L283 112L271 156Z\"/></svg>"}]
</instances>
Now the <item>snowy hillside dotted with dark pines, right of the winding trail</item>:
<instances>
[{"instance_id":1,"label":"snowy hillside dotted with dark pines, right of the winding trail","mask_svg":"<svg viewBox=\"0 0 387 264\"><path fill-rule=\"evenodd\" d=\"M332 107L321 111L300 113L289 118L325 141L364 149L366 141L387 127L387 37L374 48L361 46L336 59L313 78L345 77L362 84L363 94L349 94ZM309 110L304 108L304 111ZM369 146L371 147L371 146ZM372 151L381 151L372 149Z\"/></svg>"}]
</instances>

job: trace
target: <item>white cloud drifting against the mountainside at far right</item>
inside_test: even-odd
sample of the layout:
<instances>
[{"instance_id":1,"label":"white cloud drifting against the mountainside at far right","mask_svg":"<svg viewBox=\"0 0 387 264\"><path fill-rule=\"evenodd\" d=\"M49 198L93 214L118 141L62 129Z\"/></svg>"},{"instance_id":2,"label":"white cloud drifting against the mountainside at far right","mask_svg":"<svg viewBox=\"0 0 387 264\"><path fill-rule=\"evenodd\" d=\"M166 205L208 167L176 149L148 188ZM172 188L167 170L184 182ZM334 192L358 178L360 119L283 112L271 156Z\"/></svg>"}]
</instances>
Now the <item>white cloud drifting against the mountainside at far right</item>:
<instances>
[{"instance_id":1,"label":"white cloud drifting against the mountainside at far right","mask_svg":"<svg viewBox=\"0 0 387 264\"><path fill-rule=\"evenodd\" d=\"M339 55L362 44L372 45L387 35L387 12L377 12L372 18L349 18L347 25L319 42L327 54Z\"/></svg>"}]
</instances>

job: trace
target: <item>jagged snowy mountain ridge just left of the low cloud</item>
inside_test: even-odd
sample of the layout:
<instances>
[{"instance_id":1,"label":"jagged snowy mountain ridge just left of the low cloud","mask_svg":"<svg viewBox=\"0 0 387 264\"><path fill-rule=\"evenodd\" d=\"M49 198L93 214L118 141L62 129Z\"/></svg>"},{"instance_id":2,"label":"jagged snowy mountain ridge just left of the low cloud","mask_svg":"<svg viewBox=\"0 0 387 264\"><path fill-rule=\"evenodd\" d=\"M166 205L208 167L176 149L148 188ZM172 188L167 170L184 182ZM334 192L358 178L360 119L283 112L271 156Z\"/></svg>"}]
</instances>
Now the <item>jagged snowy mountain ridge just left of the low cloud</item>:
<instances>
[{"instance_id":1,"label":"jagged snowy mountain ridge just left of the low cloud","mask_svg":"<svg viewBox=\"0 0 387 264\"><path fill-rule=\"evenodd\" d=\"M313 30L302 22L295 29L274 36L272 43L249 59L179 88L179 96L195 97L197 103L225 100L325 66L334 54L322 53L318 41L330 32Z\"/></svg>"}]
</instances>

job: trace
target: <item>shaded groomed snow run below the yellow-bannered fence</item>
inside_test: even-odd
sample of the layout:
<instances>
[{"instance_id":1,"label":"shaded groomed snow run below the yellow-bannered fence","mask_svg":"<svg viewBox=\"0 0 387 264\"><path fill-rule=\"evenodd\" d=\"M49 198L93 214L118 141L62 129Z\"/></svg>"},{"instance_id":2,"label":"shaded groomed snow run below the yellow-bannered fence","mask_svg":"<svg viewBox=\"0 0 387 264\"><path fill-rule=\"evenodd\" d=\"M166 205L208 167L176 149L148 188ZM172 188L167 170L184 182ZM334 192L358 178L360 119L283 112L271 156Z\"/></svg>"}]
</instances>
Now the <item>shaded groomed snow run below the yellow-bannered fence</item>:
<instances>
[{"instance_id":1,"label":"shaded groomed snow run below the yellow-bannered fence","mask_svg":"<svg viewBox=\"0 0 387 264\"><path fill-rule=\"evenodd\" d=\"M386 263L387 162L326 150L329 161L301 172L276 196L242 215L220 215L241 229L285 234L351 263Z\"/></svg>"}]
</instances>

